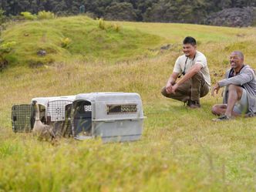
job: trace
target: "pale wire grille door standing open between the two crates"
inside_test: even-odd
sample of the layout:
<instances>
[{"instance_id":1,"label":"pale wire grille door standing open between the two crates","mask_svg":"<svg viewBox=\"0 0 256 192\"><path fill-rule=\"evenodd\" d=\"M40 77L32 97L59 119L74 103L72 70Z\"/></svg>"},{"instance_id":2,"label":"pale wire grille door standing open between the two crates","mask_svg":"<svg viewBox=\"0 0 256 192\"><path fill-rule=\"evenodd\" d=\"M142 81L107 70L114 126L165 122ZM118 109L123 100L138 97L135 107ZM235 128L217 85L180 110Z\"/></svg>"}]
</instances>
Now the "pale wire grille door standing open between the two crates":
<instances>
[{"instance_id":1,"label":"pale wire grille door standing open between the two crates","mask_svg":"<svg viewBox=\"0 0 256 192\"><path fill-rule=\"evenodd\" d=\"M72 104L69 100L56 100L48 103L47 116L51 117L51 121L65 121L65 107ZM67 116L69 118L70 116Z\"/></svg>"}]
</instances>

